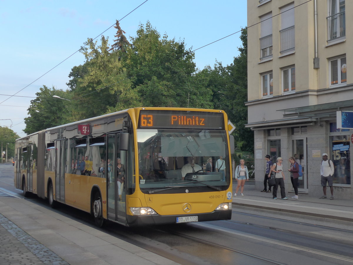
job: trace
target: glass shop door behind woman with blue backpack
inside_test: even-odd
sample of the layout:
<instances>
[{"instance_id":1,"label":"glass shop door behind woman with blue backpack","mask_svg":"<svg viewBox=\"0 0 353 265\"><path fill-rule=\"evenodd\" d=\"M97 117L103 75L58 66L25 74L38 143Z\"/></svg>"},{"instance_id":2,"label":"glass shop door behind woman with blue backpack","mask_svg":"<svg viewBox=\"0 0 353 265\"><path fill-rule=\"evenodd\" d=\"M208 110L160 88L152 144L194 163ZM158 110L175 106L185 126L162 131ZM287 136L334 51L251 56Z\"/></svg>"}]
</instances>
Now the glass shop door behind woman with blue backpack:
<instances>
[{"instance_id":1,"label":"glass shop door behind woman with blue backpack","mask_svg":"<svg viewBox=\"0 0 353 265\"><path fill-rule=\"evenodd\" d=\"M298 191L307 192L308 191L308 181L307 181L307 147L306 147L306 137L292 139L292 152L295 161L302 166L303 177L299 177L298 181ZM292 187L293 190L293 187Z\"/></svg>"}]
</instances>

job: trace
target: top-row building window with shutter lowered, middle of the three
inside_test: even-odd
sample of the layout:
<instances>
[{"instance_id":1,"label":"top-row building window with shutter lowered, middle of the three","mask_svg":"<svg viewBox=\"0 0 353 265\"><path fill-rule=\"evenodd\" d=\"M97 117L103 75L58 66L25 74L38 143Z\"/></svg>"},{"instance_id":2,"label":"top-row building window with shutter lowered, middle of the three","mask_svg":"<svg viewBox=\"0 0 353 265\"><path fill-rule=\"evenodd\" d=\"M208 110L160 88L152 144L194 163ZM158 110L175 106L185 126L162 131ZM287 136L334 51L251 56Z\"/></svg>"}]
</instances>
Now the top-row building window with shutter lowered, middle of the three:
<instances>
[{"instance_id":1,"label":"top-row building window with shutter lowered, middle of the three","mask_svg":"<svg viewBox=\"0 0 353 265\"><path fill-rule=\"evenodd\" d=\"M281 8L281 53L294 49L294 3Z\"/></svg>"}]
</instances>

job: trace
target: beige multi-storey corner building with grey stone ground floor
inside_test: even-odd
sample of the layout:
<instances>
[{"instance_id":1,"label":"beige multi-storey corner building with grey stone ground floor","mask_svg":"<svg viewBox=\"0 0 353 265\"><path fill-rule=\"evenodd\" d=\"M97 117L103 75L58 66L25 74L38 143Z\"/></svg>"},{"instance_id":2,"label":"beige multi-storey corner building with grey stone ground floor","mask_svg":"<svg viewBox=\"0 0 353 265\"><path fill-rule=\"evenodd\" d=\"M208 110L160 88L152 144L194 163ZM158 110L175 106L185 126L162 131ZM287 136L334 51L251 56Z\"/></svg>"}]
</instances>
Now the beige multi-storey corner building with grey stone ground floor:
<instances>
[{"instance_id":1,"label":"beige multi-storey corner building with grey stone ground floor","mask_svg":"<svg viewBox=\"0 0 353 265\"><path fill-rule=\"evenodd\" d=\"M327 153L335 165L335 198L353 198L353 130L336 124L337 111L353 111L350 12L353 1L247 1L246 127L255 133L256 189L263 189L269 154L273 161L282 157L285 169L295 157L304 170L299 193L322 196L320 164ZM286 192L293 192L285 171Z\"/></svg>"}]
</instances>

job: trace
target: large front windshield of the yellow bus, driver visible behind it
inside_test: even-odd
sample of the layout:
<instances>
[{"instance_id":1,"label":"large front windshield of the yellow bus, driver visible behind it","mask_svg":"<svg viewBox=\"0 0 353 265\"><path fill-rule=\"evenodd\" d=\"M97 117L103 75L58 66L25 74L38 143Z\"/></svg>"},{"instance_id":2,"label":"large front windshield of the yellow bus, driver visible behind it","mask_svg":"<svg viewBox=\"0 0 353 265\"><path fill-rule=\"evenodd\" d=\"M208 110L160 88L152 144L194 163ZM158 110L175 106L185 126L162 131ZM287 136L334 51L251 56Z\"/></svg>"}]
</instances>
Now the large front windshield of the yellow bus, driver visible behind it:
<instances>
[{"instance_id":1,"label":"large front windshield of the yellow bus, driver visible behind it","mask_svg":"<svg viewBox=\"0 0 353 265\"><path fill-rule=\"evenodd\" d=\"M138 129L137 142L139 186L143 192L177 193L178 188L185 187L216 191L229 187L224 130Z\"/></svg>"}]
</instances>

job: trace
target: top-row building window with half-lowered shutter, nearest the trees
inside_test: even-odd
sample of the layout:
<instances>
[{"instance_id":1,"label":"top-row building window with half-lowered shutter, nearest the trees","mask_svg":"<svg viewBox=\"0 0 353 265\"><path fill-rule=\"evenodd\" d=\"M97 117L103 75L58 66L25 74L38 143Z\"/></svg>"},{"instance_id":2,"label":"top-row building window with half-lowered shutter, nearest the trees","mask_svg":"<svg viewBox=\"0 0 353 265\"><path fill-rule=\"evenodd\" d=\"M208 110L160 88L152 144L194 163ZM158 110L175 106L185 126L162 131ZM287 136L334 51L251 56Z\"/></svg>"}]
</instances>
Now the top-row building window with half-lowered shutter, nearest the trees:
<instances>
[{"instance_id":1,"label":"top-row building window with half-lowered shutter, nearest the trees","mask_svg":"<svg viewBox=\"0 0 353 265\"><path fill-rule=\"evenodd\" d=\"M260 17L260 58L272 55L272 13Z\"/></svg>"}]
</instances>

